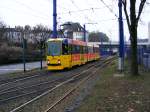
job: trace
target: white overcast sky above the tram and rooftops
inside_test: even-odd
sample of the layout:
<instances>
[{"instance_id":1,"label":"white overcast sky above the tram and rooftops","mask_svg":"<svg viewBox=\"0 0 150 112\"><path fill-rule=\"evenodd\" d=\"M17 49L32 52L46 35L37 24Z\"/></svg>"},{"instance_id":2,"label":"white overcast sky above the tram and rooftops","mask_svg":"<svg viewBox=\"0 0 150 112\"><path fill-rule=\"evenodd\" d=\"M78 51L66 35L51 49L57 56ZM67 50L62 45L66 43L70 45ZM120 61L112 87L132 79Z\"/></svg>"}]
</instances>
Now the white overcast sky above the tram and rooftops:
<instances>
[{"instance_id":1,"label":"white overcast sky above the tram and rooftops","mask_svg":"<svg viewBox=\"0 0 150 112\"><path fill-rule=\"evenodd\" d=\"M0 0L0 20L11 27L43 24L52 29L52 3L53 0ZM111 40L118 40L118 19L115 16L115 14L118 16L118 1L104 0L104 3L101 0L57 0L58 28L66 21L79 22L81 25L97 23L87 24L87 30L104 32L111 37ZM150 5L148 4L145 5L141 21L138 37L147 38L150 21ZM124 20L124 32L128 40L126 20Z\"/></svg>"}]
</instances>

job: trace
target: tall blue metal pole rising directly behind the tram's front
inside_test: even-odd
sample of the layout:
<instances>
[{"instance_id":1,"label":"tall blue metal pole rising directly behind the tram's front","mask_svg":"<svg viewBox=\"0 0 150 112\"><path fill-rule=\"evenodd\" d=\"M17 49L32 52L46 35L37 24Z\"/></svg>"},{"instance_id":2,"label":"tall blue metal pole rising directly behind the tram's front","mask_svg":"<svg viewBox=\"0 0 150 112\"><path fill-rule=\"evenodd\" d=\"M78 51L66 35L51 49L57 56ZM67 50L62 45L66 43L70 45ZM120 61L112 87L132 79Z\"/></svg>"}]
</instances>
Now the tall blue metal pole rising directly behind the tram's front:
<instances>
[{"instance_id":1,"label":"tall blue metal pole rising directly behind the tram's front","mask_svg":"<svg viewBox=\"0 0 150 112\"><path fill-rule=\"evenodd\" d=\"M53 38L57 38L57 8L56 0L53 0Z\"/></svg>"}]
</instances>

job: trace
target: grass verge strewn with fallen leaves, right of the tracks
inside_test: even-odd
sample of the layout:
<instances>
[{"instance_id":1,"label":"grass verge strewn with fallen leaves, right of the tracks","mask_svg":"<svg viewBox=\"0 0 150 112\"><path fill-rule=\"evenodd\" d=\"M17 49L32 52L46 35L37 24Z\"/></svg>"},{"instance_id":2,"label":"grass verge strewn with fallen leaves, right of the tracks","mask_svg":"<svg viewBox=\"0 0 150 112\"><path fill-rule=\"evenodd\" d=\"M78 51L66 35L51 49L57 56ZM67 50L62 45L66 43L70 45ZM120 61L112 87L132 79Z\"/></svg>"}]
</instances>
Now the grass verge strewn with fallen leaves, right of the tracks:
<instances>
[{"instance_id":1,"label":"grass verge strewn with fallen leaves, right of the tracks","mask_svg":"<svg viewBox=\"0 0 150 112\"><path fill-rule=\"evenodd\" d=\"M116 77L117 66L103 69L91 94L76 112L150 112L150 73Z\"/></svg>"}]
</instances>

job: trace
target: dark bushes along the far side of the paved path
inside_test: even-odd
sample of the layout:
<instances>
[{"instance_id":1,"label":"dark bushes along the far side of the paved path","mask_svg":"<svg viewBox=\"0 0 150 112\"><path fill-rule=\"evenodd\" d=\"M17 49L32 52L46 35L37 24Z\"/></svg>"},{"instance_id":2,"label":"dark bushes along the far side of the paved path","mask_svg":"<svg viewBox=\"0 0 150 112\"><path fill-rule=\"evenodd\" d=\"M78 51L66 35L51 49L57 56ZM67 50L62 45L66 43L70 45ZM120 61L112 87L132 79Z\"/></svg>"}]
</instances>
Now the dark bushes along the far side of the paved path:
<instances>
[{"instance_id":1,"label":"dark bushes along the far side of the paved path","mask_svg":"<svg viewBox=\"0 0 150 112\"><path fill-rule=\"evenodd\" d=\"M9 46L7 43L0 44L0 64L22 62L23 49L21 47ZM43 59L45 58L43 54ZM25 50L26 61L38 61L41 59L40 51L33 49Z\"/></svg>"}]
</instances>

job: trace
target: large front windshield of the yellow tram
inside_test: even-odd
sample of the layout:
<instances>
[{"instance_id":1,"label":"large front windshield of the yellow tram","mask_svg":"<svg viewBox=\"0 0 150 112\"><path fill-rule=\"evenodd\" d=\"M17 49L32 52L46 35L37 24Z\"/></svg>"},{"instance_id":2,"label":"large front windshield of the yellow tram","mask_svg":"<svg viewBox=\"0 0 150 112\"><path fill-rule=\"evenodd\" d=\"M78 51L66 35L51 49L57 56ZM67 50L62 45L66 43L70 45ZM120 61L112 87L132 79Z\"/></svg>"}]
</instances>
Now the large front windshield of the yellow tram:
<instances>
[{"instance_id":1,"label":"large front windshield of the yellow tram","mask_svg":"<svg viewBox=\"0 0 150 112\"><path fill-rule=\"evenodd\" d=\"M61 42L48 42L47 54L50 56L61 55Z\"/></svg>"}]
</instances>

